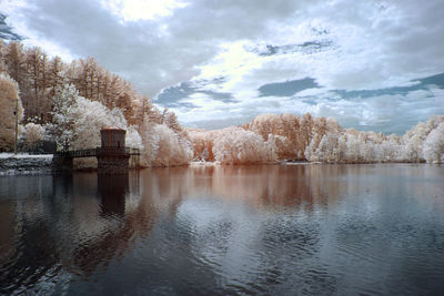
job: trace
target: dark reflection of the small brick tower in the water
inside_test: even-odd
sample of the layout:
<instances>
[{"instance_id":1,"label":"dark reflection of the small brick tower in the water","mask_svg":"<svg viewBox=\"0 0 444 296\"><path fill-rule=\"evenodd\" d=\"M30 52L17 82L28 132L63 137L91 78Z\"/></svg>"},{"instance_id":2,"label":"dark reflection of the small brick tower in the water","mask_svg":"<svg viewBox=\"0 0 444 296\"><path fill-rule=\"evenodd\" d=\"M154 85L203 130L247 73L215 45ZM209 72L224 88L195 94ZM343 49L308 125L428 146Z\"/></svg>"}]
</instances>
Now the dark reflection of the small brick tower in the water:
<instances>
[{"instance_id":1,"label":"dark reflection of the small brick tower in the water","mask_svg":"<svg viewBox=\"0 0 444 296\"><path fill-rule=\"evenodd\" d=\"M101 201L101 214L123 215L129 175L98 175L98 194Z\"/></svg>"}]
</instances>

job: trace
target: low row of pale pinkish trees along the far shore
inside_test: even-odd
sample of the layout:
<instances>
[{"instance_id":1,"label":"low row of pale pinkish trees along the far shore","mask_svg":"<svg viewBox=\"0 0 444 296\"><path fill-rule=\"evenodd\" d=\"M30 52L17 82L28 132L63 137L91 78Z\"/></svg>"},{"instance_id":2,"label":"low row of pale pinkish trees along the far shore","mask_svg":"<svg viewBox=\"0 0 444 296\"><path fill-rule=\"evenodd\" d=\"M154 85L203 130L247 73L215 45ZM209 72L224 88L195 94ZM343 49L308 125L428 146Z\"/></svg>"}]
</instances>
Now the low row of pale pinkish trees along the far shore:
<instances>
[{"instance_id":1,"label":"low row of pale pinkish trees along the far shore","mask_svg":"<svg viewBox=\"0 0 444 296\"><path fill-rule=\"evenodd\" d=\"M444 162L444 116L420 122L404 135L343 129L309 113L262 114L243 126L189 129L194 160L222 164L310 161L324 163Z\"/></svg>"}]
</instances>

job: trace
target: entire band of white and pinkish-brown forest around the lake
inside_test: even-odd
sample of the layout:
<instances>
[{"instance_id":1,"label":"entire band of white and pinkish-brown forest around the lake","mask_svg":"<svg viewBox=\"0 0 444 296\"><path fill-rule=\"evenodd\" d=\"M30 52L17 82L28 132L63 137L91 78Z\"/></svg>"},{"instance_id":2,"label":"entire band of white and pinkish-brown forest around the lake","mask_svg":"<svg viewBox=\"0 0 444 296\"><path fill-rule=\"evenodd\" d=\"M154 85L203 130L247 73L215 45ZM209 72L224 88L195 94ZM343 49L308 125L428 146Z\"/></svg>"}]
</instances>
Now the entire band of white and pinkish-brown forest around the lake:
<instances>
[{"instance_id":1,"label":"entire band of white and pinkish-brown forest around the lake","mask_svg":"<svg viewBox=\"0 0 444 296\"><path fill-rule=\"evenodd\" d=\"M145 167L193 161L444 162L444 115L403 135L344 129L334 119L309 113L261 114L242 126L214 131L188 129L93 58L65 63L16 41L0 40L0 152L14 149L17 112L21 151L43 142L57 143L58 150L94 147L100 129L117 125L127 130L127 145L142 151Z\"/></svg>"}]
</instances>

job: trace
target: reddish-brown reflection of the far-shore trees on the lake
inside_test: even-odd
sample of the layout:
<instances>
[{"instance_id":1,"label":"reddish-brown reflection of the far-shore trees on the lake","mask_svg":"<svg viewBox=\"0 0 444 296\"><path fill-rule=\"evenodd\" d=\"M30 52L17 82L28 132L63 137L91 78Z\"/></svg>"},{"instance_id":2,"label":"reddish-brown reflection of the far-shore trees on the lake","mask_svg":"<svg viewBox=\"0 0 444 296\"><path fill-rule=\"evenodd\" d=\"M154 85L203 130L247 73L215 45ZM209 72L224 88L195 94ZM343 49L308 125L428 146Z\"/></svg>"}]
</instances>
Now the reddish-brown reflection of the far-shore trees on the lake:
<instances>
[{"instance_id":1,"label":"reddish-brown reflection of the far-shore trees on the lake","mask_svg":"<svg viewBox=\"0 0 444 296\"><path fill-rule=\"evenodd\" d=\"M223 198L244 200L261 207L327 205L329 198L340 195L336 186L340 175L346 173L339 166L316 165L258 165L258 166L202 166L172 170L159 177L161 192L188 196L212 194ZM182 187L179 187L182 186ZM165 194L169 195L169 194ZM329 196L329 198L326 198ZM330 201L331 202L331 201Z\"/></svg>"}]
</instances>

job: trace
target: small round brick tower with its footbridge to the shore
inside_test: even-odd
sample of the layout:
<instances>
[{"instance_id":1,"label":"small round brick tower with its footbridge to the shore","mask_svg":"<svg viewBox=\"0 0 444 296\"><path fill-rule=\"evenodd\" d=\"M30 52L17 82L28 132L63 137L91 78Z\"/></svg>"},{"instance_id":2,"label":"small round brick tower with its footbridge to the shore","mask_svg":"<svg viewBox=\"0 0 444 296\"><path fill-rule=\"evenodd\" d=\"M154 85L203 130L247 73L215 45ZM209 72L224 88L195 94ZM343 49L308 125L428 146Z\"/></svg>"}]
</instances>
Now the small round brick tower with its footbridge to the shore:
<instances>
[{"instance_id":1,"label":"small round brick tower with its footbridge to the shore","mask_svg":"<svg viewBox=\"0 0 444 296\"><path fill-rule=\"evenodd\" d=\"M100 147L57 152L53 157L53 171L70 172L73 170L74 157L95 156L99 174L127 174L130 156L138 157L138 165L140 152L138 149L125 146L125 130L118 126L103 127L100 130Z\"/></svg>"}]
</instances>

